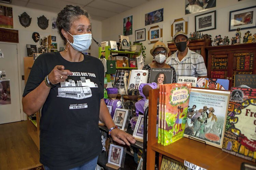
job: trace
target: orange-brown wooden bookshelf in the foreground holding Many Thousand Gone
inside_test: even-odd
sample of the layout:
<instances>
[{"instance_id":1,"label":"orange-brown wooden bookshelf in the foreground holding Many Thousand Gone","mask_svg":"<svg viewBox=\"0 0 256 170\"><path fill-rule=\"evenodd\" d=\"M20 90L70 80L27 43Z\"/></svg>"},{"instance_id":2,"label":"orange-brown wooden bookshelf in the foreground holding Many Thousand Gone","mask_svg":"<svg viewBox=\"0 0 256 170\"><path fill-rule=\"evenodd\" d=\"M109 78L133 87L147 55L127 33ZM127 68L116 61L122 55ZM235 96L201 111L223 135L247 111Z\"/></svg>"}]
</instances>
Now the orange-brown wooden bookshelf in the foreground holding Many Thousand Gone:
<instances>
[{"instance_id":1,"label":"orange-brown wooden bookshelf in the foreground holding Many Thousand Gone","mask_svg":"<svg viewBox=\"0 0 256 170\"><path fill-rule=\"evenodd\" d=\"M220 148L205 145L204 143L188 139L186 137L183 137L168 146L163 146L157 143L157 138L154 134L156 134L157 100L159 98L159 89L150 90L149 98L147 169L155 169L156 153L159 153L159 167L161 167L163 155L175 159L182 164L184 164L184 160L186 160L208 170L240 169L241 163L252 163L246 159L224 152Z\"/></svg>"}]
</instances>

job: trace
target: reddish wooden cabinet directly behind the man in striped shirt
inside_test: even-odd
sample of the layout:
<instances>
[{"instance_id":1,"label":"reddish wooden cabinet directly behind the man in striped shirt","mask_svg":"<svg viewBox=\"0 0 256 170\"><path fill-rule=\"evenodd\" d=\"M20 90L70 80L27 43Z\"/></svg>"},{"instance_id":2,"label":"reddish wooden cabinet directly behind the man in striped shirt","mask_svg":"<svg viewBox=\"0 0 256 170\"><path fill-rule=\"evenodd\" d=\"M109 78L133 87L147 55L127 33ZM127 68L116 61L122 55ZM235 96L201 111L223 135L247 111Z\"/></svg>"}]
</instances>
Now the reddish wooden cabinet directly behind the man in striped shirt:
<instances>
[{"instance_id":1,"label":"reddish wooden cabinet directly behind the man in striped shirt","mask_svg":"<svg viewBox=\"0 0 256 170\"><path fill-rule=\"evenodd\" d=\"M210 39L197 39L197 40L190 40L188 44L188 48L192 51L195 51L198 54L201 54L204 59L204 63L207 66L207 52L205 51L205 47L211 46ZM169 55L172 55L177 51L174 43L168 43L168 48L170 49Z\"/></svg>"}]
</instances>

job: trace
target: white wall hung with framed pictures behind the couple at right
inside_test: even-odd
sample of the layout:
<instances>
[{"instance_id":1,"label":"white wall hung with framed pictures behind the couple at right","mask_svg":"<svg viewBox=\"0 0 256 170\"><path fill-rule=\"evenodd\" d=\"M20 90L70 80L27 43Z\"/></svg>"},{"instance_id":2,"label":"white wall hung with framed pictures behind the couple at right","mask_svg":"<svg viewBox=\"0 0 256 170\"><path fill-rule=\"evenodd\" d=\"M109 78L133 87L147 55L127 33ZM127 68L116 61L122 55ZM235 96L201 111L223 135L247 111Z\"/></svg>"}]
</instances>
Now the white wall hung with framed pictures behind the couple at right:
<instances>
[{"instance_id":1,"label":"white wall hung with framed pictures behind the couple at right","mask_svg":"<svg viewBox=\"0 0 256 170\"><path fill-rule=\"evenodd\" d=\"M216 0L216 7L208 9L203 12L198 12L194 14L185 15L185 0L152 0L138 7L132 8L126 12L113 16L111 18L102 21L102 41L115 40L119 41L118 35L123 35L123 18L128 16L133 16L133 34L129 35L129 40L131 43L135 41L135 30L142 28L150 28L159 24L163 24L163 43L167 45L167 41L172 40L171 38L171 24L170 21L174 19L187 17L188 19L188 33L195 31L195 16L199 14L204 14L207 12L216 10L216 29L205 31L215 37L221 34L222 37L228 36L231 38L234 36L236 31L229 32L229 12L242 9L245 7L250 7L256 5L256 0ZM163 22L158 22L145 26L145 14L163 8ZM255 19L255 18L254 18ZM146 29L147 30L147 29ZM256 29L249 29L252 34L256 32ZM242 36L248 31L241 30ZM146 32L147 39L147 32ZM231 42L231 40L230 40ZM146 47L146 60L145 63L148 64L153 60L153 56L150 54L150 49L153 44L147 44L146 41L142 41L143 45Z\"/></svg>"}]
</instances>

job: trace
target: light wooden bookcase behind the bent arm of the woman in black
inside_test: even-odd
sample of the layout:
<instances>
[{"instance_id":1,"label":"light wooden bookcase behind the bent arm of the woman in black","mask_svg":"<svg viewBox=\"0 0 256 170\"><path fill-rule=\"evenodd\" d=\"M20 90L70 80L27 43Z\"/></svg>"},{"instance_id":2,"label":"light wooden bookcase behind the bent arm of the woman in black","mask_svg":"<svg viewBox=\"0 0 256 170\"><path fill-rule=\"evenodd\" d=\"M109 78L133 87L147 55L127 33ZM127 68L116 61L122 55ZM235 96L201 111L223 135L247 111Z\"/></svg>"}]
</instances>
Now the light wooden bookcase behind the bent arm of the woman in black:
<instances>
[{"instance_id":1,"label":"light wooden bookcase behind the bent arm of the woman in black","mask_svg":"<svg viewBox=\"0 0 256 170\"><path fill-rule=\"evenodd\" d=\"M27 83L28 76L30 73L30 70L34 64L33 57L24 57L24 78L25 78L25 84ZM28 134L32 138L32 140L35 142L35 145L40 149L39 141L40 141L40 117L41 113L40 111L36 112L37 119L31 120L27 116L27 128L28 128Z\"/></svg>"}]
</instances>

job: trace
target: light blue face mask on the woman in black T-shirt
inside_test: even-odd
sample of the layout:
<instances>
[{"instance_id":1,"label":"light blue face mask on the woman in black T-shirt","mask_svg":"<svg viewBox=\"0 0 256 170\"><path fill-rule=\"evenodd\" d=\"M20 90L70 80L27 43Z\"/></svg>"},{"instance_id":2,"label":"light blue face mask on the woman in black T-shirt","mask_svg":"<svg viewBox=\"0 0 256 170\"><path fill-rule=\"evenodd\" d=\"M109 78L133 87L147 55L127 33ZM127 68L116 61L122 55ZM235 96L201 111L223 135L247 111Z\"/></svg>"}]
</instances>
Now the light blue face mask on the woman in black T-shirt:
<instances>
[{"instance_id":1,"label":"light blue face mask on the woman in black T-shirt","mask_svg":"<svg viewBox=\"0 0 256 170\"><path fill-rule=\"evenodd\" d=\"M69 33L69 32L68 32ZM70 34L70 33L69 33ZM70 34L71 35L71 34ZM91 45L91 34L80 34L80 35L71 35L73 37L73 43L69 44L76 50L76 51L86 51L89 49Z\"/></svg>"}]
</instances>

